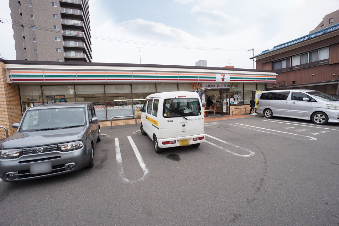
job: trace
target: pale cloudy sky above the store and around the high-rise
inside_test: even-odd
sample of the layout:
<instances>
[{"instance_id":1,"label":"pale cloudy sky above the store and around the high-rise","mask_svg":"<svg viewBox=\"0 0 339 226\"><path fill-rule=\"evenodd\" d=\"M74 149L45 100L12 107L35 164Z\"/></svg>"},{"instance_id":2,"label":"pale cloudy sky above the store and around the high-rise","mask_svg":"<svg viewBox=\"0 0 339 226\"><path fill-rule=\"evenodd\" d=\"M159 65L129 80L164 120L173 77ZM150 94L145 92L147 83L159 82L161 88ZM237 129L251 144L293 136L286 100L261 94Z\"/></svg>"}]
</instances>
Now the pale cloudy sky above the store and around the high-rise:
<instances>
[{"instance_id":1,"label":"pale cloudy sky above the store and around the high-rise","mask_svg":"<svg viewBox=\"0 0 339 226\"><path fill-rule=\"evenodd\" d=\"M338 9L338 0L89 0L93 62L139 64L140 47L142 64L224 67L229 60L251 69L246 50L256 55L307 35ZM10 13L1 0L0 18ZM11 24L0 23L0 54L16 59Z\"/></svg>"}]
</instances>

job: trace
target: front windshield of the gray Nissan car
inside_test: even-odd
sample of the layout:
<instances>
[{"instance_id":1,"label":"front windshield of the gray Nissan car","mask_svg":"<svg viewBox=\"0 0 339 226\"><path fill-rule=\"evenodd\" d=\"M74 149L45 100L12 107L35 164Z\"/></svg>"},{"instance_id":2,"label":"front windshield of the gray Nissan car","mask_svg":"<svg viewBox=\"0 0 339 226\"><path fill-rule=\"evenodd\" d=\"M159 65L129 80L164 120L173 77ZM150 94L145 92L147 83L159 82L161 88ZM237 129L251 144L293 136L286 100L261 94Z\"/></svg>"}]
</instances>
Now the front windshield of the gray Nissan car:
<instances>
[{"instance_id":1,"label":"front windshield of the gray Nissan car","mask_svg":"<svg viewBox=\"0 0 339 226\"><path fill-rule=\"evenodd\" d=\"M84 126L85 119L85 109L80 107L28 110L20 132Z\"/></svg>"}]
</instances>

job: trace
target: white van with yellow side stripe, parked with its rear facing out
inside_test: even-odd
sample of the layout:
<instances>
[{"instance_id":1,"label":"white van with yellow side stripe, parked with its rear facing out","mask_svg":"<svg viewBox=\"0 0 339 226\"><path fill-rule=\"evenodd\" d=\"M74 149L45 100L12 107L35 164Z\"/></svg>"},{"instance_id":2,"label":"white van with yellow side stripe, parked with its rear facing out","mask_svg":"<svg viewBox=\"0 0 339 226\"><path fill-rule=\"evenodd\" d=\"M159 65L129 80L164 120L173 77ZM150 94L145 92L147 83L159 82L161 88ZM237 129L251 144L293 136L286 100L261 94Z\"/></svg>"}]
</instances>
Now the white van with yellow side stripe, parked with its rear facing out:
<instances>
[{"instance_id":1,"label":"white van with yellow side stripe, parked with its rear facing out","mask_svg":"<svg viewBox=\"0 0 339 226\"><path fill-rule=\"evenodd\" d=\"M205 140L204 115L196 92L161 92L149 95L141 110L142 135L160 153L165 147L199 147Z\"/></svg>"}]
</instances>

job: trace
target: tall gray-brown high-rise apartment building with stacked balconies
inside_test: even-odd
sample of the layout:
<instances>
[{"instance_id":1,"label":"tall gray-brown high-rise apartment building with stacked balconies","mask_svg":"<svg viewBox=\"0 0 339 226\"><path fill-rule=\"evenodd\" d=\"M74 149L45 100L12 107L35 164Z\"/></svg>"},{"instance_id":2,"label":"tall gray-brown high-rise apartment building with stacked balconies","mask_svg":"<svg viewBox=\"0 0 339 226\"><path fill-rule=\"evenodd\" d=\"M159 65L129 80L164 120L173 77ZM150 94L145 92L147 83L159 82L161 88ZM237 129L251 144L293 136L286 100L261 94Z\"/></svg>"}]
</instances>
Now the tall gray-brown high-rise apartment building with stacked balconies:
<instances>
[{"instance_id":1,"label":"tall gray-brown high-rise apartment building with stacked balconies","mask_svg":"<svg viewBox=\"0 0 339 226\"><path fill-rule=\"evenodd\" d=\"M17 60L92 62L88 0L9 0Z\"/></svg>"}]
</instances>

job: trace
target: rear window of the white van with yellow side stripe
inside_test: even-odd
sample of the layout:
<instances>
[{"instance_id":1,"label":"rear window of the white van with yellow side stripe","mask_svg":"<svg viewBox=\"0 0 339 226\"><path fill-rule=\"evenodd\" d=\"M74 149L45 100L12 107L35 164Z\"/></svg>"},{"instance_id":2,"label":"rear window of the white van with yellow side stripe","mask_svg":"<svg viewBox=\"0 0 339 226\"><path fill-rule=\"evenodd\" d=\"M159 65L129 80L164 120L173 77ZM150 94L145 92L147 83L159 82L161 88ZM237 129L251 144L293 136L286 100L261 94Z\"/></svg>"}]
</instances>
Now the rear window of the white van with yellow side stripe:
<instances>
[{"instance_id":1,"label":"rear window of the white van with yellow side stripe","mask_svg":"<svg viewBox=\"0 0 339 226\"><path fill-rule=\"evenodd\" d=\"M201 115L199 99L198 98L165 99L162 115L165 118Z\"/></svg>"}]
</instances>

